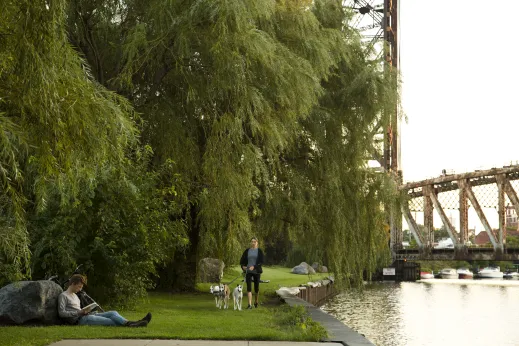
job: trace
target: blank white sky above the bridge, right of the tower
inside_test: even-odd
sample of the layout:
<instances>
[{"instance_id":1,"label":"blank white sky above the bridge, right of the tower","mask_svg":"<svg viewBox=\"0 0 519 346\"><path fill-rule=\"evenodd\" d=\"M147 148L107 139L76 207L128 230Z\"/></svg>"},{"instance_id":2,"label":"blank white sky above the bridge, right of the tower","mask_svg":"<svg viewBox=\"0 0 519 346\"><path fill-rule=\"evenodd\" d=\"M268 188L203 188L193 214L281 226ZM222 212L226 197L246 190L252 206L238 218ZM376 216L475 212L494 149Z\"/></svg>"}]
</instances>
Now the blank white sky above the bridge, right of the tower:
<instances>
[{"instance_id":1,"label":"blank white sky above the bridge, right of the tower","mask_svg":"<svg viewBox=\"0 0 519 346\"><path fill-rule=\"evenodd\" d=\"M519 163L519 0L399 6L404 181Z\"/></svg>"}]
</instances>

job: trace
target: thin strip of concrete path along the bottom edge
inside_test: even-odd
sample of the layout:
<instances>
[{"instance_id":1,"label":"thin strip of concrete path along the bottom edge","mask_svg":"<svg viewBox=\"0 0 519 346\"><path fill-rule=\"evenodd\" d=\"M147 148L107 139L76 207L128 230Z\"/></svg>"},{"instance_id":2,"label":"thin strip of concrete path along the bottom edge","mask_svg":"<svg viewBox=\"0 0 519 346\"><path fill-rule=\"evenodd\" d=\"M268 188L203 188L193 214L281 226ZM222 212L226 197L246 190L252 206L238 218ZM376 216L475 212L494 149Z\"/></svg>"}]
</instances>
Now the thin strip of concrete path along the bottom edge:
<instances>
[{"instance_id":1,"label":"thin strip of concrete path along the bottom edge","mask_svg":"<svg viewBox=\"0 0 519 346\"><path fill-rule=\"evenodd\" d=\"M226 340L134 340L89 339L61 340L50 346L342 346L340 343L292 341L226 341Z\"/></svg>"}]
</instances>

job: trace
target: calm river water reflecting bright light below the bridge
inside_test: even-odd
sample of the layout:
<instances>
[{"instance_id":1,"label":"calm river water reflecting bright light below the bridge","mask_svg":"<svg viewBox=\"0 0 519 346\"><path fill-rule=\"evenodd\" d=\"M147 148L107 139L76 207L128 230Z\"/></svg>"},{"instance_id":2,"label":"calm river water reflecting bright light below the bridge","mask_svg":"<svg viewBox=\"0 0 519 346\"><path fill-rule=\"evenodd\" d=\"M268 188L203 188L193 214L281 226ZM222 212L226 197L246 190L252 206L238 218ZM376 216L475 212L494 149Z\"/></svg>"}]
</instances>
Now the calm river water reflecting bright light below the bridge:
<instances>
[{"instance_id":1,"label":"calm river water reflecting bright light below the bridge","mask_svg":"<svg viewBox=\"0 0 519 346\"><path fill-rule=\"evenodd\" d=\"M519 345L519 281L435 281L369 284L323 310L378 346Z\"/></svg>"}]
</instances>

